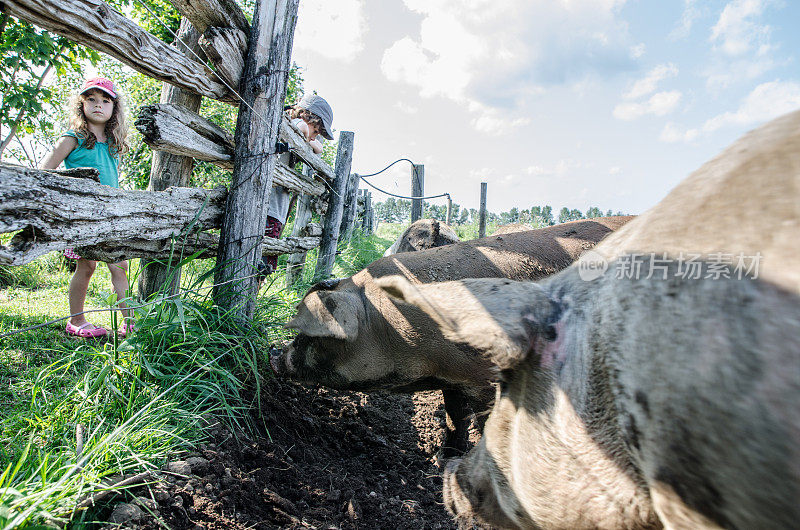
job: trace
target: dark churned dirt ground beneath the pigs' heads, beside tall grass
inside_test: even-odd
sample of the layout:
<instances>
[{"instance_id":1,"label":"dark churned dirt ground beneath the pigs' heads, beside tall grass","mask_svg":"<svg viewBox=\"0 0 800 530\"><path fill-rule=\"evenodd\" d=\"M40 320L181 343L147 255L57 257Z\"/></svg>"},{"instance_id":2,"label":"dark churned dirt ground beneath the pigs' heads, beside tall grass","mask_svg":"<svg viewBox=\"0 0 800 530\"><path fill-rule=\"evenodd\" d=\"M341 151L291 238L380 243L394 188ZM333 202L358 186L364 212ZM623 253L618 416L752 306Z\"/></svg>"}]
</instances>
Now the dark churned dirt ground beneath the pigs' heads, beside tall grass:
<instances>
[{"instance_id":1,"label":"dark churned dirt ground beneath the pigs' heads, beside tall grass","mask_svg":"<svg viewBox=\"0 0 800 530\"><path fill-rule=\"evenodd\" d=\"M106 528L457 528L433 458L444 436L440 393L272 380L261 408L259 435L216 428L159 484L118 499Z\"/></svg>"}]
</instances>

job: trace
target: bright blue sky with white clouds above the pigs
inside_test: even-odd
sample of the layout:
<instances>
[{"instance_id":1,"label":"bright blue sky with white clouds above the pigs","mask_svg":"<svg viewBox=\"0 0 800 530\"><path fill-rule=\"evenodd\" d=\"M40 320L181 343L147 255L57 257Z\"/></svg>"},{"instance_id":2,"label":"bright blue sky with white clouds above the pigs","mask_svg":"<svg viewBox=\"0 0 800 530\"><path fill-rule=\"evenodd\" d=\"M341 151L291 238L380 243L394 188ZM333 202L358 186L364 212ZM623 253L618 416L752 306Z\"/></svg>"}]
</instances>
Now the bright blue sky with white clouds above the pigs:
<instances>
[{"instance_id":1,"label":"bright blue sky with white clouds above the pigs","mask_svg":"<svg viewBox=\"0 0 800 530\"><path fill-rule=\"evenodd\" d=\"M353 172L409 158L462 207L486 182L496 213L638 214L800 108L799 28L797 0L301 0L292 57ZM411 194L405 162L368 180Z\"/></svg>"}]
</instances>

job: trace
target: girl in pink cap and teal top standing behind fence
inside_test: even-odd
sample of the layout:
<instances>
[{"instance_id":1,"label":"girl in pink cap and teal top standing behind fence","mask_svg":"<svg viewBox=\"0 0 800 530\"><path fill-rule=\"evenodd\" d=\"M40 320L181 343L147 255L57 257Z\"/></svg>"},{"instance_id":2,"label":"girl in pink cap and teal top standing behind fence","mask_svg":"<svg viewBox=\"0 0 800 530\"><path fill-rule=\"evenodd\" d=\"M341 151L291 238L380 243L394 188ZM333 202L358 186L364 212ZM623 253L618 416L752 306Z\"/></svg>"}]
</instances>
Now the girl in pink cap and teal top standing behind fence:
<instances>
[{"instance_id":1,"label":"girl in pink cap and teal top standing behind fence","mask_svg":"<svg viewBox=\"0 0 800 530\"><path fill-rule=\"evenodd\" d=\"M114 83L105 77L87 80L80 93L70 100L69 116L70 130L61 136L41 168L55 169L61 162L67 168L94 167L100 172L101 184L118 188L117 163L119 156L128 149L128 127L125 107ZM97 262L81 258L71 248L64 254L77 260L75 274L69 282L69 312L73 316L67 321L67 333L83 338L102 337L108 330L91 324L83 315L86 290ZM107 265L117 299L122 300L128 288L128 262ZM119 307L123 313L119 334L125 336L133 325L128 323L130 311L125 309L125 304L120 302Z\"/></svg>"}]
</instances>

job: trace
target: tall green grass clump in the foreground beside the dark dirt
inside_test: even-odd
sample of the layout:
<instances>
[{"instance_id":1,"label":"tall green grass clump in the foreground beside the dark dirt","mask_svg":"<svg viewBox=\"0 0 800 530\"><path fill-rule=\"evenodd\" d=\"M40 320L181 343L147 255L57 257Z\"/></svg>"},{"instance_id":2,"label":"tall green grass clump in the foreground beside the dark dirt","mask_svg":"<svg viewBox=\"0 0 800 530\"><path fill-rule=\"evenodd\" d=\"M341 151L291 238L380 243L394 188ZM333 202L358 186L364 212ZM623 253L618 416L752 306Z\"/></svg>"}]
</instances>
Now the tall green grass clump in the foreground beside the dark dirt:
<instances>
[{"instance_id":1,"label":"tall green grass clump in the foreground beside the dark dirt","mask_svg":"<svg viewBox=\"0 0 800 530\"><path fill-rule=\"evenodd\" d=\"M210 299L213 270L185 265L181 296L159 293L136 309L126 340L39 346L41 364L30 373L9 370L0 528L80 526L96 517L81 504L91 492L195 447L211 417L238 431L253 427L258 367L283 333L291 296L267 293L242 322ZM14 351L31 353L18 337Z\"/></svg>"}]
</instances>

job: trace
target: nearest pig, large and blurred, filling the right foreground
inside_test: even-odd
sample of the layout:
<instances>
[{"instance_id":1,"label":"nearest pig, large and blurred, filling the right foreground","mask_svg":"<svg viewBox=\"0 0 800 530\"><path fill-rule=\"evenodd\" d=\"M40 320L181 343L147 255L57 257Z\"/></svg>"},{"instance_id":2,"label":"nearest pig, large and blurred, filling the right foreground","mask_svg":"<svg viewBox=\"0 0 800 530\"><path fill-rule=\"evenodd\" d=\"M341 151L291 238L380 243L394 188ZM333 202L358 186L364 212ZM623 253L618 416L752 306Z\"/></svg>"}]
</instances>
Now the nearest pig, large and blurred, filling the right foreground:
<instances>
[{"instance_id":1,"label":"nearest pig, large and blurred, filling the right foreground","mask_svg":"<svg viewBox=\"0 0 800 530\"><path fill-rule=\"evenodd\" d=\"M499 528L795 527L798 233L800 111L545 280L376 280L492 364L448 510Z\"/></svg>"}]
</instances>

